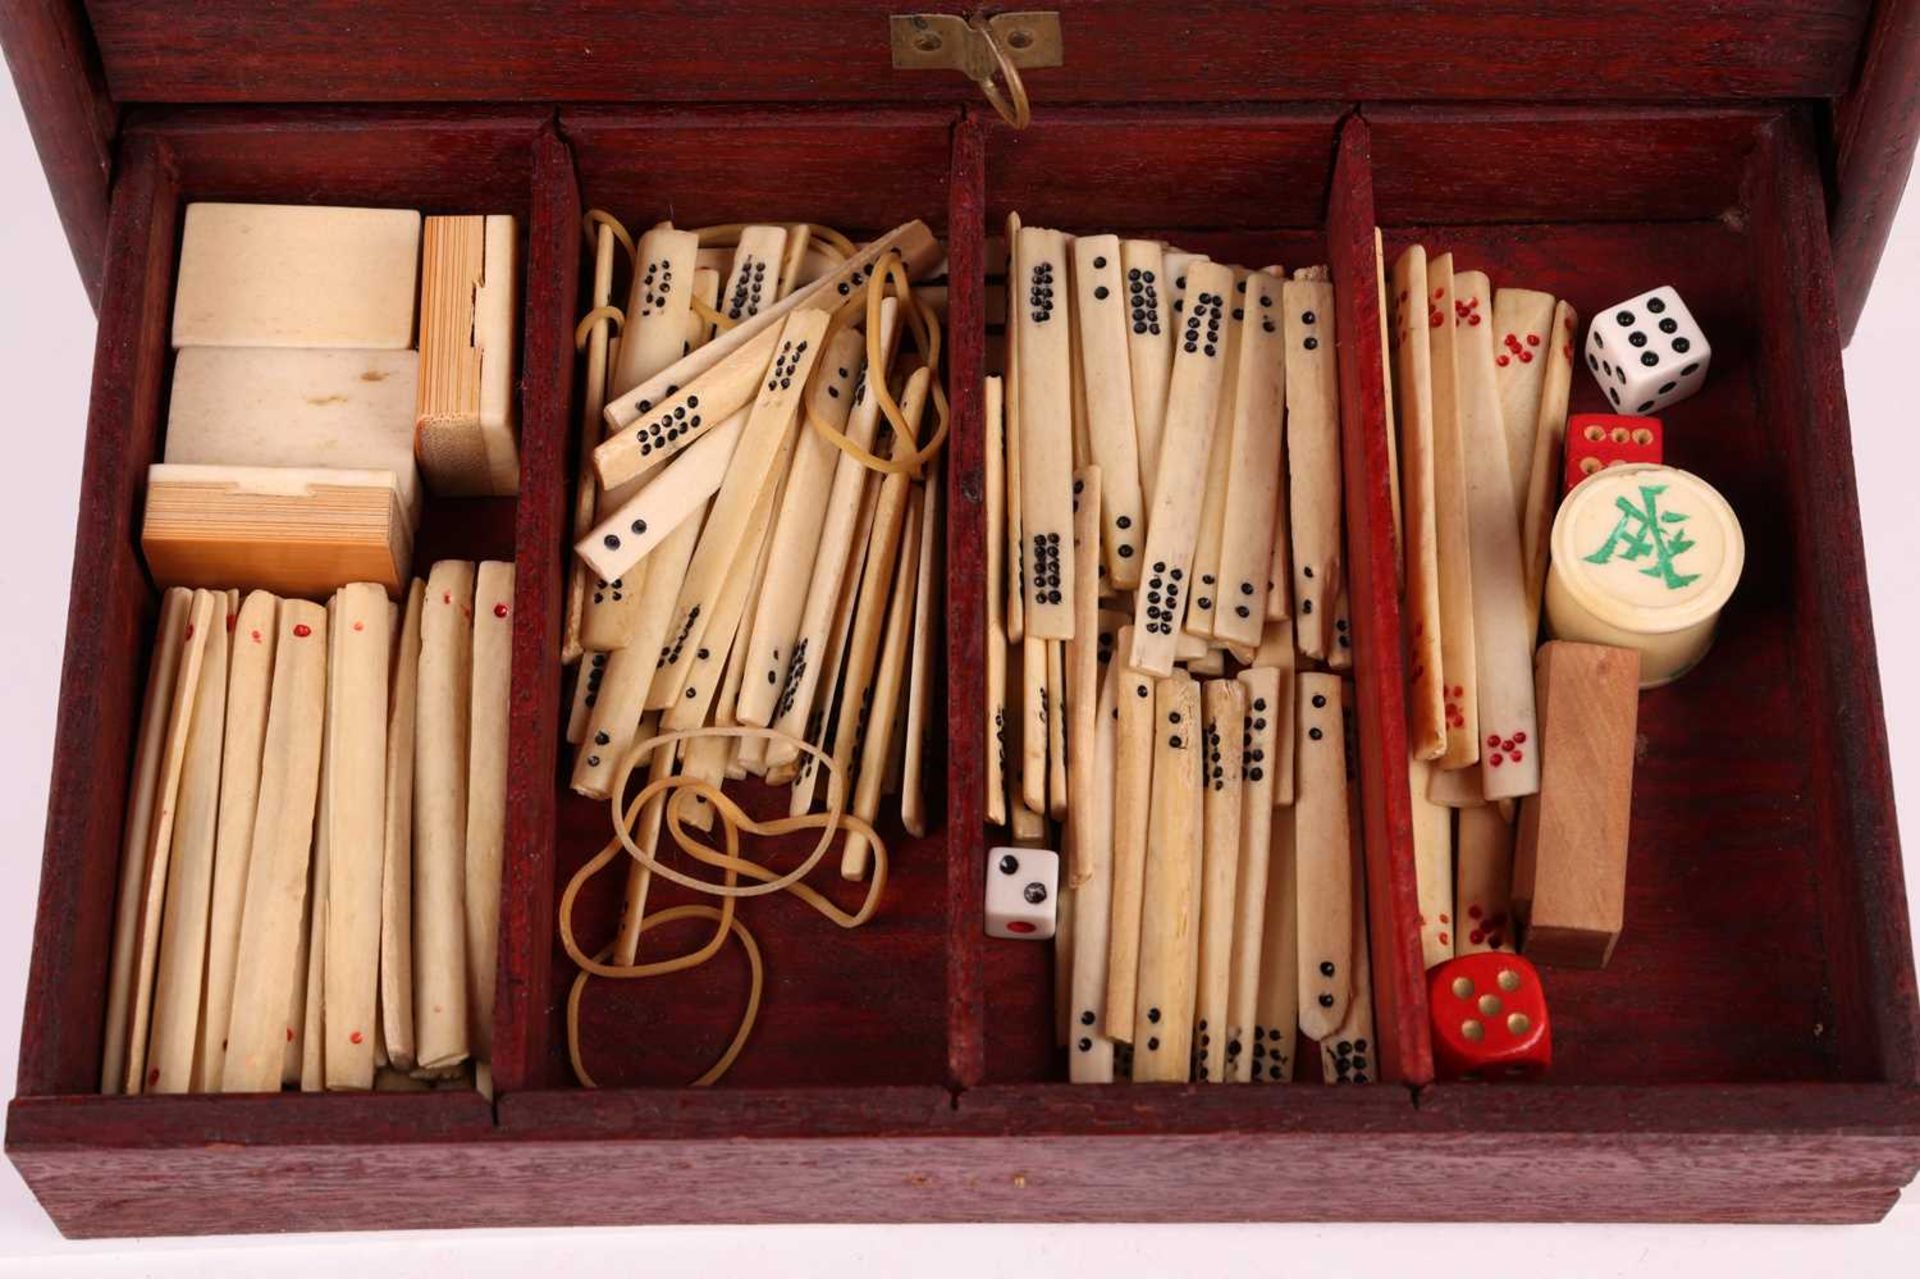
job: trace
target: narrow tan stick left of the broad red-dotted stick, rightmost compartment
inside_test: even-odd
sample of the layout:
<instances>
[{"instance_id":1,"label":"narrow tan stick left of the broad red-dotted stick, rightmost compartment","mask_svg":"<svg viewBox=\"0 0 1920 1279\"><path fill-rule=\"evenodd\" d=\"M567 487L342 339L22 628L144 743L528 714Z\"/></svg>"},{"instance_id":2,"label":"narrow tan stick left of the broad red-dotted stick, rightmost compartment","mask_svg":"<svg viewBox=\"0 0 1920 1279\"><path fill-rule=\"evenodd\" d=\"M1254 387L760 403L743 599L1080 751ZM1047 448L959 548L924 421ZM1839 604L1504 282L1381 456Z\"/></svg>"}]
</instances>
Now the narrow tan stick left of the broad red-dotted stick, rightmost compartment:
<instances>
[{"instance_id":1,"label":"narrow tan stick left of the broad red-dotted stick, rightmost compartment","mask_svg":"<svg viewBox=\"0 0 1920 1279\"><path fill-rule=\"evenodd\" d=\"M1473 543L1467 528L1467 446L1457 396L1453 255L1427 265L1427 321L1432 342L1434 530L1440 565L1440 697L1446 751L1440 768L1480 759L1480 695L1473 632Z\"/></svg>"}]
</instances>

